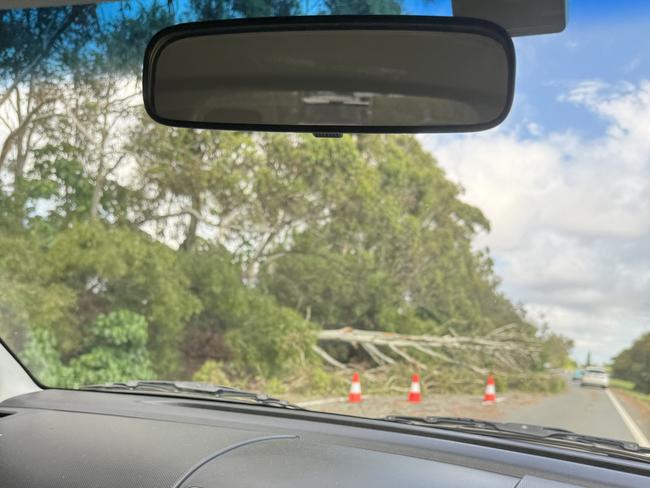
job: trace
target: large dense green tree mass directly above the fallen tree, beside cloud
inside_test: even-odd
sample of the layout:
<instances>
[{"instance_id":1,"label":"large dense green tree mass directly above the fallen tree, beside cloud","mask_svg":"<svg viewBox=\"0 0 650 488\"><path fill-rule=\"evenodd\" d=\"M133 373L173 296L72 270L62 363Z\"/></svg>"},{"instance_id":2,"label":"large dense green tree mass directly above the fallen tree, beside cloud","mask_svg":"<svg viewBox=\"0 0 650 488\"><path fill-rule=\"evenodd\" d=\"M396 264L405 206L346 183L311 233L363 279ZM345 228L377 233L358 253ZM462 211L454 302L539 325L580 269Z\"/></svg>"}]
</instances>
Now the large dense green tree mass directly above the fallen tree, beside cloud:
<instances>
[{"instance_id":1,"label":"large dense green tree mass directly above the fallen tree, beside cloud","mask_svg":"<svg viewBox=\"0 0 650 488\"><path fill-rule=\"evenodd\" d=\"M300 175L294 184L318 206L292 248L263 266L266 290L325 327L425 333L453 322L469 333L525 323L497 291L489 256L472 250L489 223L415 139L336 144L273 141L268 157L302 162L286 172Z\"/></svg>"}]
</instances>

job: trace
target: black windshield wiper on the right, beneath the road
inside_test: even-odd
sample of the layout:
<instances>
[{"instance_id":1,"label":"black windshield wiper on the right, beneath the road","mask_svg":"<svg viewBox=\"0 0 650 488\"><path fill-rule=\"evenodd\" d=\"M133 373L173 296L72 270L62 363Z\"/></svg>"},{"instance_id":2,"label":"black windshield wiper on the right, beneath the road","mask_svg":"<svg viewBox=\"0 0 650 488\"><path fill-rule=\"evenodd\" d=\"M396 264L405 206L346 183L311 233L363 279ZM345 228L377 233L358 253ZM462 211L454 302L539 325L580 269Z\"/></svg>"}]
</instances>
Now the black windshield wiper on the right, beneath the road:
<instances>
[{"instance_id":1,"label":"black windshield wiper on the right, beneath the road","mask_svg":"<svg viewBox=\"0 0 650 488\"><path fill-rule=\"evenodd\" d=\"M550 441L554 445L573 445L589 447L603 454L621 455L635 460L650 462L650 448L641 447L635 442L609 439L592 435L577 434L558 427L544 427L517 422L492 422L462 417L409 417L390 415L383 420L409 425L447 428L464 432L495 435L499 437L517 437L537 442ZM555 441L555 442L554 442ZM557 442L559 441L559 442Z\"/></svg>"}]
</instances>

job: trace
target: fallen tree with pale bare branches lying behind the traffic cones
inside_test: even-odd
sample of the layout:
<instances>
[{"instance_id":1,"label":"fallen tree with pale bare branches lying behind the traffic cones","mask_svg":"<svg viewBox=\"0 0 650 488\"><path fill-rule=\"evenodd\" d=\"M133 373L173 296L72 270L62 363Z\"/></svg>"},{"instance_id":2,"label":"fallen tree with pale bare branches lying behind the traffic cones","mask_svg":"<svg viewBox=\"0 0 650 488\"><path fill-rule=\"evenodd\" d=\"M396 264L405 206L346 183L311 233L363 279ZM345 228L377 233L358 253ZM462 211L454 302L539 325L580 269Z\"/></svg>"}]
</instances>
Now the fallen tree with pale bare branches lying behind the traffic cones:
<instances>
[{"instance_id":1,"label":"fallen tree with pale bare branches lying behind the traffic cones","mask_svg":"<svg viewBox=\"0 0 650 488\"><path fill-rule=\"evenodd\" d=\"M320 331L318 341L343 342L362 348L377 366L401 361L427 370L442 362L481 374L495 366L508 370L528 369L531 360L534 361L540 352L539 341L518 334L517 324L499 327L482 337L406 335L344 327ZM314 345L313 350L331 366L350 367L319 345Z\"/></svg>"}]
</instances>

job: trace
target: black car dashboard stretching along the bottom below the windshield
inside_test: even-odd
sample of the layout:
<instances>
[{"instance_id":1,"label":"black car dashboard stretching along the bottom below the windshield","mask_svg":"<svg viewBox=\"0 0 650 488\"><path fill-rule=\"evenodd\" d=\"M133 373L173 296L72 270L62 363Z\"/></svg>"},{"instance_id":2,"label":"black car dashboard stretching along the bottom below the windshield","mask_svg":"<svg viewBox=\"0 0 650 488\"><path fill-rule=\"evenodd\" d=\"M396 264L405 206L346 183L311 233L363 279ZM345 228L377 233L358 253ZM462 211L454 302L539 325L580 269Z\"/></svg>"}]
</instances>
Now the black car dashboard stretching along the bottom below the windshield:
<instances>
[{"instance_id":1,"label":"black car dashboard stretching along the bottom below the windshield","mask_svg":"<svg viewBox=\"0 0 650 488\"><path fill-rule=\"evenodd\" d=\"M44 390L0 403L2 488L650 487L586 453L337 415Z\"/></svg>"}]
</instances>

